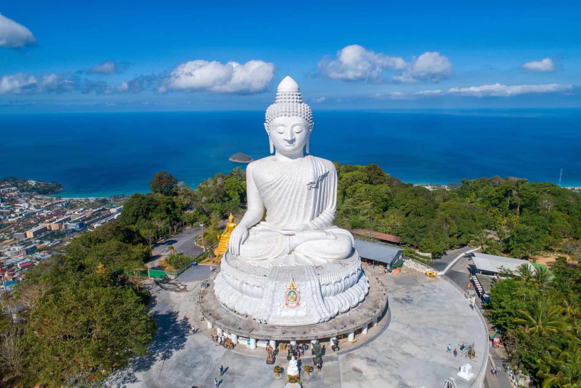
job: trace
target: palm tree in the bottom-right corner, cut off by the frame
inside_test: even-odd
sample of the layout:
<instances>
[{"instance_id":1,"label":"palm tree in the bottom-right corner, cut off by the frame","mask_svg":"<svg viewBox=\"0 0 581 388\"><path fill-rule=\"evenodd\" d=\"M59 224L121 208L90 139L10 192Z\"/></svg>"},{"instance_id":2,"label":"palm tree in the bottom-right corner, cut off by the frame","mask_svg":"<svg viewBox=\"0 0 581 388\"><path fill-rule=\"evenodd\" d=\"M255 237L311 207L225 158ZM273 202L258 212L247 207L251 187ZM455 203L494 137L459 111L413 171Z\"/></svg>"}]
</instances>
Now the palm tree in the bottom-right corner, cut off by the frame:
<instances>
[{"instance_id":1,"label":"palm tree in the bottom-right corner, cut off by the frame","mask_svg":"<svg viewBox=\"0 0 581 388\"><path fill-rule=\"evenodd\" d=\"M550 347L551 353L546 367L539 371L543 378L543 388L581 386L581 344L578 339L567 341L561 350Z\"/></svg>"}]
</instances>

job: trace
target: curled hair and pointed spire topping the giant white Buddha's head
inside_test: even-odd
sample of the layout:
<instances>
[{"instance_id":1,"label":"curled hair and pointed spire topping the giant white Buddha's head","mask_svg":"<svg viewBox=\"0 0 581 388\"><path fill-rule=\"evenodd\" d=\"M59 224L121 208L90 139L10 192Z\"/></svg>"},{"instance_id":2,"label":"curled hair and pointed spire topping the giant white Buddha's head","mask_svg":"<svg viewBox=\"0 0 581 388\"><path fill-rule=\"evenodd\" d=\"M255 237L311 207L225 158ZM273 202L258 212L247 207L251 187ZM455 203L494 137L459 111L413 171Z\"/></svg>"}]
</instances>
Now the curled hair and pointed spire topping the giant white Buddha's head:
<instances>
[{"instance_id":1,"label":"curled hair and pointed spire topping the giant white Buddha's head","mask_svg":"<svg viewBox=\"0 0 581 388\"><path fill-rule=\"evenodd\" d=\"M277 98L266 110L266 124L270 124L277 117L284 116L302 117L309 123L313 122L313 112L307 104L303 103L299 84L288 75L278 84Z\"/></svg>"}]
</instances>

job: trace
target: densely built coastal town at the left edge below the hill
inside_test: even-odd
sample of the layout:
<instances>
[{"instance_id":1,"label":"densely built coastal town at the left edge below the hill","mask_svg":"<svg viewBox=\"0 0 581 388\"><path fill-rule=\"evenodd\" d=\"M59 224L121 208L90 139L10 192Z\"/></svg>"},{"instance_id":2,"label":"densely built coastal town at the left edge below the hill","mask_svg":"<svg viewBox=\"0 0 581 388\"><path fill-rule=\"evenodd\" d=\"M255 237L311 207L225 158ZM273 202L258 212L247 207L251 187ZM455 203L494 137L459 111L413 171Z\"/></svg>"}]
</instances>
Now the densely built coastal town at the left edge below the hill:
<instances>
[{"instance_id":1,"label":"densely built coastal town at the left edge below the hill","mask_svg":"<svg viewBox=\"0 0 581 388\"><path fill-rule=\"evenodd\" d=\"M123 209L125 200L62 200L30 191L31 186L42 184L0 180L0 266L9 293L35 265L53 253L64 252L64 246L78 234L116 220ZM3 291L2 282L0 289Z\"/></svg>"}]
</instances>

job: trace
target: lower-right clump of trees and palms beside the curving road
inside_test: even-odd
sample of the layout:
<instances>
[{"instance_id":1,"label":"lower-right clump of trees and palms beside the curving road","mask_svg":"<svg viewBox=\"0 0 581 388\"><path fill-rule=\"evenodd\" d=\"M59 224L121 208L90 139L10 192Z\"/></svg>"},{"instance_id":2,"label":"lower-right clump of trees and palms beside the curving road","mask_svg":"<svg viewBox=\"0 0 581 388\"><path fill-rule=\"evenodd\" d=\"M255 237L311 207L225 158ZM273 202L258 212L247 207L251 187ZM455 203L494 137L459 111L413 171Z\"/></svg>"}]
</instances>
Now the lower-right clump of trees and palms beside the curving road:
<instances>
[{"instance_id":1,"label":"lower-right clump of trees and palms beside the curving road","mask_svg":"<svg viewBox=\"0 0 581 388\"><path fill-rule=\"evenodd\" d=\"M579 242L573 256L581 259ZM513 368L543 388L581 386L581 266L560 257L546 269L526 264L497 281L486 314L503 335Z\"/></svg>"}]
</instances>

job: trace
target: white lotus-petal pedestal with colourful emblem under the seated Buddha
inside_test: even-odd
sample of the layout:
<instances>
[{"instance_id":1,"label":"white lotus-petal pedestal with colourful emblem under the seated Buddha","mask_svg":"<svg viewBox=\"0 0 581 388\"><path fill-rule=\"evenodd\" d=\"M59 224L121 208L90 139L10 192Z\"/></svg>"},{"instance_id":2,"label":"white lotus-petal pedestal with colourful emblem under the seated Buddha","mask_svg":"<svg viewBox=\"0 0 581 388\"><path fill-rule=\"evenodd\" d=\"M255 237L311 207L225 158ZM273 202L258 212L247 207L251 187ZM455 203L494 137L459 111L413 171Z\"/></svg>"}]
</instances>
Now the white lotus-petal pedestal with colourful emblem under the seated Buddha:
<instances>
[{"instance_id":1,"label":"white lotus-petal pedestal with colourful emblem under the seated Buddha","mask_svg":"<svg viewBox=\"0 0 581 388\"><path fill-rule=\"evenodd\" d=\"M267 266L222 258L214 292L228 310L278 326L318 324L365 299L369 281L357 252L324 265ZM292 291L291 291L292 289Z\"/></svg>"}]
</instances>

